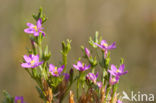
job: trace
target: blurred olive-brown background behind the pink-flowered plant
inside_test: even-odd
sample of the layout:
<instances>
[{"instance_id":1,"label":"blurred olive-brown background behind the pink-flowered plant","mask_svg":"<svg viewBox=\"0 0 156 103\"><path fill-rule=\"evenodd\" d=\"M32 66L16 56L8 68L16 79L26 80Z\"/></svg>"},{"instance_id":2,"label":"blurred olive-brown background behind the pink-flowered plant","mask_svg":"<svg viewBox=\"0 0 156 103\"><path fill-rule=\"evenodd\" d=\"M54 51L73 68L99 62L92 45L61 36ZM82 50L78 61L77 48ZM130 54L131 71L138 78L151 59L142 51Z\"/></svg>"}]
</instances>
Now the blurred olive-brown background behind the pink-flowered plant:
<instances>
[{"instance_id":1,"label":"blurred olive-brown background behind the pink-flowered plant","mask_svg":"<svg viewBox=\"0 0 156 103\"><path fill-rule=\"evenodd\" d=\"M25 47L30 47L26 22L42 6L48 21L44 28L51 63L61 60L61 41L72 39L71 67L89 46L96 31L109 43L117 42L111 63L125 59L129 73L121 78L123 90L156 94L156 0L0 0L0 100L2 90L24 96L27 103L41 103L34 81L20 67ZM74 87L73 87L74 88Z\"/></svg>"}]
</instances>

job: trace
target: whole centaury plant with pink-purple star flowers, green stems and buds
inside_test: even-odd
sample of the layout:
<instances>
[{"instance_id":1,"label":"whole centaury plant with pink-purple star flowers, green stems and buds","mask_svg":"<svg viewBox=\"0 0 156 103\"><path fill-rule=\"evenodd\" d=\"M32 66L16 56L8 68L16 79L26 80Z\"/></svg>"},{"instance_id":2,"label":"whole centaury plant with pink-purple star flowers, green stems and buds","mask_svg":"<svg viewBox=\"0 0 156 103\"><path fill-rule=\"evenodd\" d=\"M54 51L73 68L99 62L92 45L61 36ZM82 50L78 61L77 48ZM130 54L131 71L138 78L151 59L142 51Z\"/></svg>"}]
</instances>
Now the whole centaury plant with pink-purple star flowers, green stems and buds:
<instances>
[{"instance_id":1,"label":"whole centaury plant with pink-purple star flowers, green stems and buds","mask_svg":"<svg viewBox=\"0 0 156 103\"><path fill-rule=\"evenodd\" d=\"M62 62L56 66L49 61L53 57L48 45L43 45L47 37L43 25L47 18L41 8L33 18L36 24L27 23L28 28L24 29L29 34L32 48L23 56L21 67L36 82L41 103L67 103L67 98L64 99L66 96L69 97L69 103L122 103L117 89L120 77L127 71L124 71L123 59L119 67L110 64L110 50L116 48L115 42L109 45L106 40L99 39L96 32L94 39L89 39L92 51L81 46L82 57L68 68L71 40L67 39L62 42ZM26 103L23 96L11 97L7 92L4 92L4 96L3 103Z\"/></svg>"}]
</instances>

